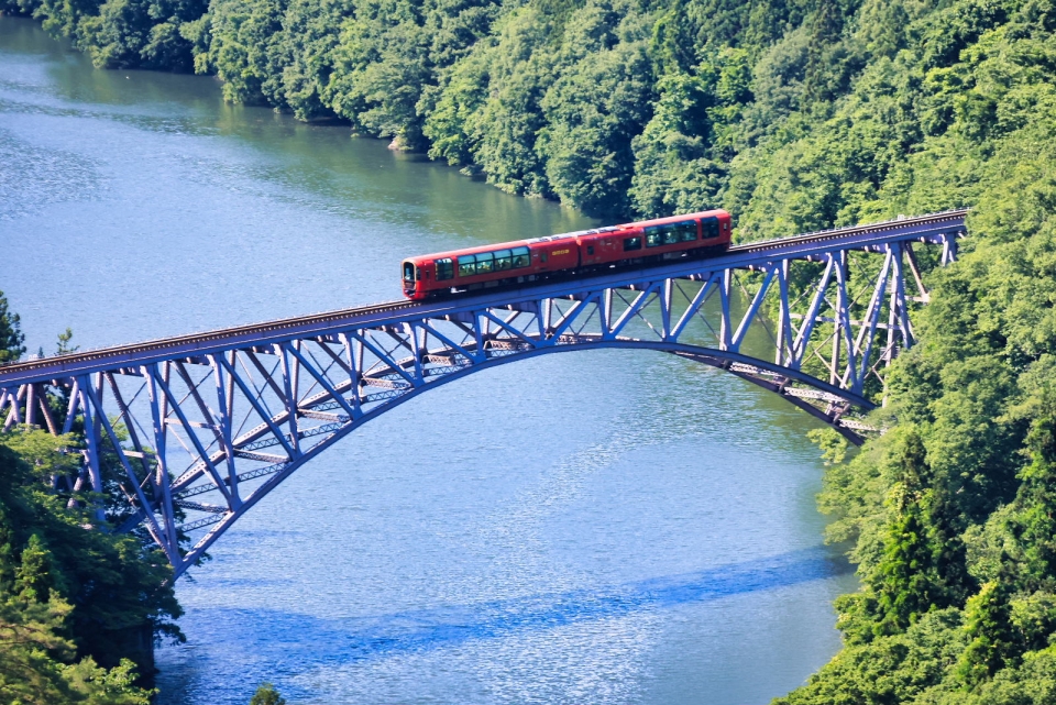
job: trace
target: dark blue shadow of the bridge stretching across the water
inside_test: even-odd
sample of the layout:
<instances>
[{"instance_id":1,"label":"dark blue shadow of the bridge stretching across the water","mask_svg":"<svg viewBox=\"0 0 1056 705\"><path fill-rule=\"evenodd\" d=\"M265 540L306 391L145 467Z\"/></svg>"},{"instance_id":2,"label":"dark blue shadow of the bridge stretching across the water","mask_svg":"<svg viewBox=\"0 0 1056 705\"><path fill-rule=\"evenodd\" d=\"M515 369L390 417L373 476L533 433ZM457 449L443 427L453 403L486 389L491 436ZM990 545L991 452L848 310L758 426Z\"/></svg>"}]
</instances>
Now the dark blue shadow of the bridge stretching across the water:
<instances>
[{"instance_id":1,"label":"dark blue shadow of the bridge stretching across the water","mask_svg":"<svg viewBox=\"0 0 1056 705\"><path fill-rule=\"evenodd\" d=\"M394 612L373 617L319 618L270 609L191 609L185 626L207 651L241 652L239 662L294 675L389 654L420 653L472 640L540 631L682 605L772 591L853 572L827 547L791 551L693 573L620 585L579 588L465 605ZM205 656L205 654L201 654ZM162 668L164 661L162 659ZM254 670L254 669L250 669ZM243 671L244 673L244 671Z\"/></svg>"}]
</instances>

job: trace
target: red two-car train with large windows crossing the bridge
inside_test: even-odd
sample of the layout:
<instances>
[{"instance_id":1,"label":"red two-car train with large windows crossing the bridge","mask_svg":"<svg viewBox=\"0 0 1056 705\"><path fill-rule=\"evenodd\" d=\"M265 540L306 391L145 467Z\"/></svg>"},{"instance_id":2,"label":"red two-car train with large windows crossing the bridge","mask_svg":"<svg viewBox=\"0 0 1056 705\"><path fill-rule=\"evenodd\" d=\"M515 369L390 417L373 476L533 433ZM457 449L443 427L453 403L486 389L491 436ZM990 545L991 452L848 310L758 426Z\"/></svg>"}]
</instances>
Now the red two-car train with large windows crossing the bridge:
<instances>
[{"instance_id":1,"label":"red two-car train with large windows crossing the bridge","mask_svg":"<svg viewBox=\"0 0 1056 705\"><path fill-rule=\"evenodd\" d=\"M722 252L729 213L706 210L547 238L404 260L404 294L414 301L605 268Z\"/></svg>"}]
</instances>

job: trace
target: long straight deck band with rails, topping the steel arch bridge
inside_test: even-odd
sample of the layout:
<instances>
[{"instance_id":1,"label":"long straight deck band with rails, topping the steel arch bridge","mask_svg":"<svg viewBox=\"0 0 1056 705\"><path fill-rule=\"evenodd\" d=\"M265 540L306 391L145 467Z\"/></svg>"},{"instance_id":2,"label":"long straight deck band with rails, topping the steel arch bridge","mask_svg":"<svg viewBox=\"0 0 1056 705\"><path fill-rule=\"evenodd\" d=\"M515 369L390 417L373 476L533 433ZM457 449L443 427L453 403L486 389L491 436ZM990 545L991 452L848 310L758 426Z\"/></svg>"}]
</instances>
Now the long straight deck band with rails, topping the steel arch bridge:
<instances>
[{"instance_id":1,"label":"long straight deck band with rails, topping the steel arch bridge","mask_svg":"<svg viewBox=\"0 0 1056 705\"><path fill-rule=\"evenodd\" d=\"M857 246L866 247L872 244L880 244L889 233L917 229L927 225L941 225L948 222L963 222L968 209L956 209L941 213L932 213L914 218L903 218L900 220L889 220L867 225L854 225L848 228L836 228L833 230L823 230L812 233L804 233L791 238L779 238L755 243L746 243L730 246L725 253L710 257L708 260L689 260L689 261L669 261L652 264L648 267L620 267L613 272L605 272L592 277L578 277L579 282L591 282L595 279L627 279L634 282L641 277L644 272L650 274L663 273L666 276L680 276L680 271L685 273L681 276L689 276L694 271L701 269L701 264L707 262L714 264L717 268L751 266L750 263L738 263L737 260L746 255L757 255L761 253L774 254L781 253L783 256L807 257L810 253L798 254L795 251L804 245L812 246L825 242L838 243L854 238L875 235L877 243L861 242ZM730 262L733 260L733 262ZM183 355L196 356L220 349L230 349L232 346L253 346L254 344L271 344L272 339L264 339L265 335L289 332L292 334L304 334L305 329L323 332L320 329L328 328L328 324L363 324L372 322L370 319L376 319L378 323L388 322L388 315L393 312L414 313L415 316L437 316L446 312L455 312L457 309L465 308L466 305L480 305L481 296L494 297L505 295L505 298L516 299L520 291L538 291L540 288L554 288L554 298L561 296L559 289L566 289L568 283L573 279L547 280L532 284L527 287L508 288L504 287L497 290L485 290L482 294L474 294L464 297L439 299L435 301L388 301L371 306L361 306L348 309L339 309L322 313L311 313L307 316L296 316L292 318L265 321L260 323L249 323L231 328L222 328L201 333L190 333L170 338L148 340L139 343L128 343L100 348L97 350L87 350L84 352L59 355L55 357L44 357L25 362L8 363L0 365L0 386L9 386L25 382L45 382L50 379L62 379L74 374L84 374L99 368L112 368L114 364L128 364L134 366L143 360L162 359L165 356ZM538 294L536 294L538 296ZM501 305L501 302L497 302ZM128 360L135 356L136 360ZM142 359L142 360L140 360ZM94 364L95 363L95 364ZM109 364L107 364L109 363Z\"/></svg>"}]
</instances>

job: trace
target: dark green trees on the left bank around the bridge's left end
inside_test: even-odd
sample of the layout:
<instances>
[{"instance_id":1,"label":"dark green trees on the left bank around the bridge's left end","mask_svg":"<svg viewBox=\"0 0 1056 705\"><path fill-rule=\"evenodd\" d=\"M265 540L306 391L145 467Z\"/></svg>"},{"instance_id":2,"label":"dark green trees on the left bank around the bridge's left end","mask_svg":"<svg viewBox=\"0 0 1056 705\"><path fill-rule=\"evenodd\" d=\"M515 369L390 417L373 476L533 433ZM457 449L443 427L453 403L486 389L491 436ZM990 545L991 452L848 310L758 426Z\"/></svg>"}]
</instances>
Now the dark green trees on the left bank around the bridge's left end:
<instances>
[{"instance_id":1,"label":"dark green trees on the left bank around the bridge's left end","mask_svg":"<svg viewBox=\"0 0 1056 705\"><path fill-rule=\"evenodd\" d=\"M0 294L3 331L10 348L21 346L19 320ZM67 331L59 348L69 340ZM59 415L62 400L48 401ZM164 555L107 531L94 506L102 497L59 489L82 465L81 447L76 432L0 431L2 704L146 705L138 680L153 675L155 636L180 637Z\"/></svg>"}]
</instances>

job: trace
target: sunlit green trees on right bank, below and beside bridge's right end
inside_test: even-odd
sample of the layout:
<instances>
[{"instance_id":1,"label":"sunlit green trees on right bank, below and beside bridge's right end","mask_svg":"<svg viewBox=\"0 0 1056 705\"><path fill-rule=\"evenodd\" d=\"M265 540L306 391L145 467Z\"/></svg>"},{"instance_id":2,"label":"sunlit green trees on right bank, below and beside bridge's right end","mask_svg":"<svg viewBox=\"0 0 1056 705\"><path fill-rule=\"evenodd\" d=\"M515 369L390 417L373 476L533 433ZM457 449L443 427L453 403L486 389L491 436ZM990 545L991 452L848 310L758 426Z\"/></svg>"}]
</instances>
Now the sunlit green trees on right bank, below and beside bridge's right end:
<instances>
[{"instance_id":1,"label":"sunlit green trees on right bank, below and beside bridge's right end","mask_svg":"<svg viewBox=\"0 0 1056 705\"><path fill-rule=\"evenodd\" d=\"M1056 702L1052 148L1019 142L1028 180L977 172L986 235L932 275L892 428L829 469L822 506L864 588L837 602L844 650L780 703Z\"/></svg>"}]
</instances>

